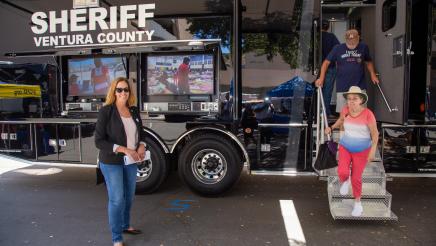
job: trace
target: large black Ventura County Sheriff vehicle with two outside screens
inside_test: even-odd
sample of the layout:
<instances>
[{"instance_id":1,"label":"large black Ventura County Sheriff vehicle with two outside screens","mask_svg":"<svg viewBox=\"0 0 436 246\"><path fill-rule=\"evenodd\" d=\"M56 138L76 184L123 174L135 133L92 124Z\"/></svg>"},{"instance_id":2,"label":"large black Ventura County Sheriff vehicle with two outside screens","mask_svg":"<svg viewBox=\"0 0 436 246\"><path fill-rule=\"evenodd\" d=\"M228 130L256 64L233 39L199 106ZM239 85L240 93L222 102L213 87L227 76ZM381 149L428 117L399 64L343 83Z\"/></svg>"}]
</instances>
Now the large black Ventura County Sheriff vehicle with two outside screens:
<instances>
[{"instance_id":1,"label":"large black Ventura County Sheriff vehicle with two outside screens","mask_svg":"<svg viewBox=\"0 0 436 246\"><path fill-rule=\"evenodd\" d=\"M376 215L366 218L396 219L386 173L436 172L433 1L17 0L0 6L8 34L1 47L1 155L95 165L97 112L108 82L125 76L151 152L138 168L139 192L156 191L171 170L205 195L230 189L244 165L251 174L314 174L326 122L312 83L326 19L341 42L347 29L360 31L381 81L380 88L368 81L381 140L376 170L367 172L369 185L378 186L363 197L376 201ZM345 218L338 202L347 197L334 192L337 177L320 174L329 181L332 215Z\"/></svg>"}]
</instances>

